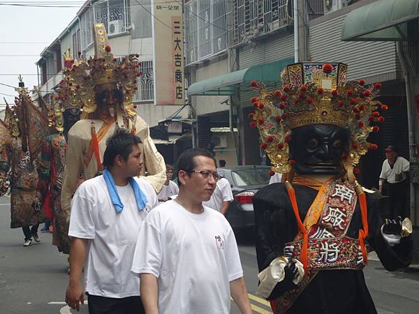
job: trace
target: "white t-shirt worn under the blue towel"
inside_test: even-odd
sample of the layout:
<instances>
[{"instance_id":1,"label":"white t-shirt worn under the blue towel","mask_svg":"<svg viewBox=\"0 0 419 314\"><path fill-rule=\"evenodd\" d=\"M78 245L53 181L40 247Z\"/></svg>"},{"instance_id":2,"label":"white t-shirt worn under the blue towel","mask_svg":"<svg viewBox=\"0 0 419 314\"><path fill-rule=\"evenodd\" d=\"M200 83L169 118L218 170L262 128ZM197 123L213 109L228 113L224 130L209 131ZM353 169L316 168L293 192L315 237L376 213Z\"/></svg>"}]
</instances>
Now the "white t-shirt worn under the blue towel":
<instances>
[{"instance_id":1,"label":"white t-shirt worn under the blue towel","mask_svg":"<svg viewBox=\"0 0 419 314\"><path fill-rule=\"evenodd\" d=\"M124 209L117 213L103 176L84 181L71 200L68 235L89 239L84 263L84 290L89 294L123 298L140 295L131 262L138 232L149 209L157 205L156 192L145 179L135 178L147 197L138 211L133 188L117 186Z\"/></svg>"}]
</instances>

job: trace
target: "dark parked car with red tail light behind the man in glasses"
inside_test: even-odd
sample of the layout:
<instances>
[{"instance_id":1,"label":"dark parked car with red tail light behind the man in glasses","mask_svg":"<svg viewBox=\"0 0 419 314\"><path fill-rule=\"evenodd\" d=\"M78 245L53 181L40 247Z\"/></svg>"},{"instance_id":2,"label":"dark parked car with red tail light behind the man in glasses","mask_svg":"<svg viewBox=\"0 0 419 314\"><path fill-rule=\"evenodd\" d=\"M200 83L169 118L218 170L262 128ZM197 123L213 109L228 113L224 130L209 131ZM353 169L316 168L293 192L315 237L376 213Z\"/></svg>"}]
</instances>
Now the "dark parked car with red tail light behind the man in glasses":
<instances>
[{"instance_id":1,"label":"dark parked car with red tail light behind the man in glasses","mask_svg":"<svg viewBox=\"0 0 419 314\"><path fill-rule=\"evenodd\" d=\"M233 229L254 227L253 196L270 180L270 167L244 165L223 167L217 172L230 182L234 200L230 203L226 218Z\"/></svg>"}]
</instances>

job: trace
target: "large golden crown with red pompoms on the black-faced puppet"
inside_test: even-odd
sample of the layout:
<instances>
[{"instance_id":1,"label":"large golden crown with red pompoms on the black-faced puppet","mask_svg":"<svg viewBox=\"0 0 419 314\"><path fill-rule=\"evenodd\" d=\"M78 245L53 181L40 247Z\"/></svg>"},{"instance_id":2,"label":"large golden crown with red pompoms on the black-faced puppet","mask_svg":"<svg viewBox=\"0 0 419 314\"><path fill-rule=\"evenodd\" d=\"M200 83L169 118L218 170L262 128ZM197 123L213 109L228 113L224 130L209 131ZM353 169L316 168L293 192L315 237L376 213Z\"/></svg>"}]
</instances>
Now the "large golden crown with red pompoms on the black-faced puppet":
<instances>
[{"instance_id":1,"label":"large golden crown with red pompoms on the black-faced puppet","mask_svg":"<svg viewBox=\"0 0 419 314\"><path fill-rule=\"evenodd\" d=\"M258 96L251 98L255 113L249 114L252 127L258 127L260 147L265 149L274 172L290 172L290 131L300 126L332 124L351 131L347 165L355 167L360 157L376 144L367 142L371 132L378 132L384 121L377 111L387 110L374 100L381 84L365 87L365 80L346 82L344 63L295 63L281 73L282 90L268 92L261 82L252 81ZM355 169L355 173L359 170Z\"/></svg>"}]
</instances>

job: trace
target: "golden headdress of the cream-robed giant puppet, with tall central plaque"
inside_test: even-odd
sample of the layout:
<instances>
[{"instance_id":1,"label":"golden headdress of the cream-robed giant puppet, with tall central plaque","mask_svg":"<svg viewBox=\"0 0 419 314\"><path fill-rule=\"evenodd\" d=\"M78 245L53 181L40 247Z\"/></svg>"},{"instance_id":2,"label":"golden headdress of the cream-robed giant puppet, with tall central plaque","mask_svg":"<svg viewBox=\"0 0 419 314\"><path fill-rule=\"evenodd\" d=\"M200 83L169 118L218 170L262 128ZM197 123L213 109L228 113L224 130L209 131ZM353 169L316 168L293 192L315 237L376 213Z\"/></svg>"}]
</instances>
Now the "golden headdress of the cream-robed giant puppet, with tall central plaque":
<instances>
[{"instance_id":1,"label":"golden headdress of the cream-robed giant puppet, with tall central plaque","mask_svg":"<svg viewBox=\"0 0 419 314\"><path fill-rule=\"evenodd\" d=\"M96 111L94 87L98 84L114 83L124 92L123 109L130 117L135 116L133 97L138 89L138 54L131 54L120 60L113 57L108 45L104 24L94 24L95 57L88 60L66 61L64 79L59 83L61 101L68 105L82 103L82 119ZM68 107L68 106L67 106Z\"/></svg>"}]
</instances>

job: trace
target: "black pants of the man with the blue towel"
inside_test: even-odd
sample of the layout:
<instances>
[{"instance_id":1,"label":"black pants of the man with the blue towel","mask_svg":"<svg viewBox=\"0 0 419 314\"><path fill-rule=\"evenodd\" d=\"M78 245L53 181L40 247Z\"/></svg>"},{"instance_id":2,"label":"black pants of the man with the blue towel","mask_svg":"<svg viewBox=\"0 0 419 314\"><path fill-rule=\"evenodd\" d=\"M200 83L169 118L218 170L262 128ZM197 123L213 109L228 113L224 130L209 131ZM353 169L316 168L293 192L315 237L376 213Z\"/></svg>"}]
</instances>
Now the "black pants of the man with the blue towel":
<instances>
[{"instance_id":1,"label":"black pants of the man with the blue towel","mask_svg":"<svg viewBox=\"0 0 419 314\"><path fill-rule=\"evenodd\" d=\"M141 297L115 299L89 294L87 304L89 314L145 314Z\"/></svg>"}]
</instances>

